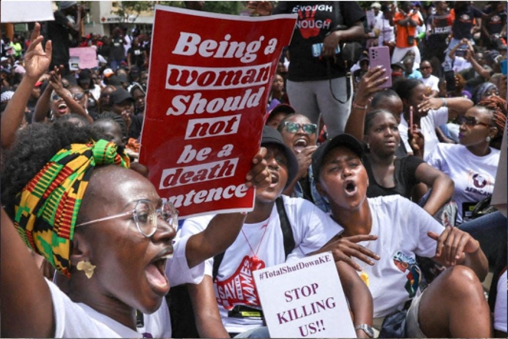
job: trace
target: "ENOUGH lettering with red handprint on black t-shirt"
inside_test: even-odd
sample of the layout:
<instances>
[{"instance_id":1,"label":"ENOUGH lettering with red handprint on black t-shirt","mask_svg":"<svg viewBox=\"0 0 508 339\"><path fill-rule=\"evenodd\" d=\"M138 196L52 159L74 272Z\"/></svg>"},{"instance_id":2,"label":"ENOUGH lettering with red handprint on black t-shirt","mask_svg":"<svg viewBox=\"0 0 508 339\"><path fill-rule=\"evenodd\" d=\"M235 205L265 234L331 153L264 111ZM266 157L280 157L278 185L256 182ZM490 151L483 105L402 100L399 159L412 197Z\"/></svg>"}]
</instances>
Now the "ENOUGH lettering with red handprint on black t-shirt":
<instances>
[{"instance_id":1,"label":"ENOUGH lettering with red handprint on black t-shirt","mask_svg":"<svg viewBox=\"0 0 508 339\"><path fill-rule=\"evenodd\" d=\"M316 18L316 12L333 12L331 5L298 5L293 8L293 13L298 13L296 27L304 39L317 37L321 28L330 29L332 19L324 20Z\"/></svg>"}]
</instances>

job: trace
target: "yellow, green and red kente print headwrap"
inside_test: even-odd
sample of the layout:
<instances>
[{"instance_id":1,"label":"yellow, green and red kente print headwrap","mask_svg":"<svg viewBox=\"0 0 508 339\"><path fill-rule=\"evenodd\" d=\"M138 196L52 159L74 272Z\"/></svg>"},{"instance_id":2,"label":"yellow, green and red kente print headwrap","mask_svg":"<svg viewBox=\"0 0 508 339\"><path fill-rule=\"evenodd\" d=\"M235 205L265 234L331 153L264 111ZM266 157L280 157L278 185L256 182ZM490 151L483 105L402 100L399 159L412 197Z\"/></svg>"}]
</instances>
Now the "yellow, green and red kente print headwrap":
<instances>
[{"instance_id":1,"label":"yellow, green and red kente print headwrap","mask_svg":"<svg viewBox=\"0 0 508 339\"><path fill-rule=\"evenodd\" d=\"M70 247L81 200L93 168L129 168L116 144L99 140L60 149L16 197L14 225L25 243L70 277Z\"/></svg>"}]
</instances>

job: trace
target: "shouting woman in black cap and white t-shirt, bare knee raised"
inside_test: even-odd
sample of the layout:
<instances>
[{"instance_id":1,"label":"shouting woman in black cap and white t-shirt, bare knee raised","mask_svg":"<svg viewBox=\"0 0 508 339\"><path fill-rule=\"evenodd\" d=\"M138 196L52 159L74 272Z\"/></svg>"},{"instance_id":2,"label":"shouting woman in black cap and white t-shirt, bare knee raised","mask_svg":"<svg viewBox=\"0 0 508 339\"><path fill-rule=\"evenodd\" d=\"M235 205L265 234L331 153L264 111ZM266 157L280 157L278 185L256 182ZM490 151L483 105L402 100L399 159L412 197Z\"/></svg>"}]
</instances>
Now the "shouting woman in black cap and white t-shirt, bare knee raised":
<instances>
[{"instance_id":1,"label":"shouting woman in black cap and white t-shirt, bare knee raised","mask_svg":"<svg viewBox=\"0 0 508 339\"><path fill-rule=\"evenodd\" d=\"M478 241L456 227L444 228L401 196L367 198L362 157L362 145L344 134L314 152L312 167L317 189L330 201L332 218L344 228L342 235L377 235L377 240L363 243L381 258L373 266L364 265L362 273L374 318L406 306L405 337L492 336L480 283L488 272L487 258ZM422 294L415 255L449 267Z\"/></svg>"}]
</instances>

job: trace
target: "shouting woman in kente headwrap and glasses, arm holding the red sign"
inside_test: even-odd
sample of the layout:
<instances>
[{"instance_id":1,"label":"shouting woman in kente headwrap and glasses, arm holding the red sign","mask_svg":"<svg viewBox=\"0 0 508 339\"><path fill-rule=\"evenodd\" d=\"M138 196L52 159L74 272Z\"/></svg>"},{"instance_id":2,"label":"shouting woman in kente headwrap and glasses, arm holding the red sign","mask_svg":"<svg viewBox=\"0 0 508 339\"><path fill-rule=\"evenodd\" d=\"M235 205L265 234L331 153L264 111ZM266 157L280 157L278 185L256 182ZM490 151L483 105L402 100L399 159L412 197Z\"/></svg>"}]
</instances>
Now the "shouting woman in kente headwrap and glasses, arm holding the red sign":
<instances>
[{"instance_id":1,"label":"shouting woman in kente headwrap and glasses, arm holding the red sign","mask_svg":"<svg viewBox=\"0 0 508 339\"><path fill-rule=\"evenodd\" d=\"M240 231L244 215L220 214L205 232L172 243L172 205L128 169L116 144L93 138L89 125L33 124L5 157L5 336L140 337L136 310L157 311L169 291L166 260L174 257L170 279L180 278L180 269L224 251ZM265 152L253 160L248 186L268 183ZM44 279L26 245L67 276L67 295Z\"/></svg>"}]
</instances>

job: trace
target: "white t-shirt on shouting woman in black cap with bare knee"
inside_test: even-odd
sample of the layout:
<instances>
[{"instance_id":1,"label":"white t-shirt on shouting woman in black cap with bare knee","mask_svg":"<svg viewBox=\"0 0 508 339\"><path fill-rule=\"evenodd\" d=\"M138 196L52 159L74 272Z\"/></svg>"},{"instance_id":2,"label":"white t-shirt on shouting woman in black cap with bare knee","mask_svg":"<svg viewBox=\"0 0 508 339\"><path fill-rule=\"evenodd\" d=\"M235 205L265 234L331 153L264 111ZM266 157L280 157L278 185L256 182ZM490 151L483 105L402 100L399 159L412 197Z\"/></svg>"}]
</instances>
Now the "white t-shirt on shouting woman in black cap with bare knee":
<instances>
[{"instance_id":1,"label":"white t-shirt on shouting woman in black cap with bare knee","mask_svg":"<svg viewBox=\"0 0 508 339\"><path fill-rule=\"evenodd\" d=\"M374 266L355 259L368 276L368 287L372 294L374 318L384 317L414 297L418 291L421 271L415 254L432 258L436 252L436 241L428 231L441 234L443 226L417 204L399 196L368 198L372 214L370 234L377 240L359 244L377 253L381 259ZM402 271L395 260L402 262ZM363 278L363 277L362 277Z\"/></svg>"}]
</instances>

